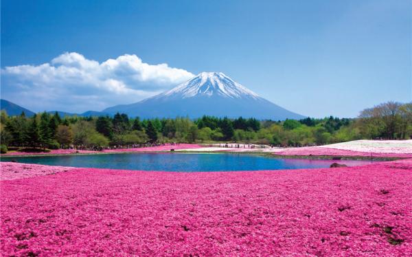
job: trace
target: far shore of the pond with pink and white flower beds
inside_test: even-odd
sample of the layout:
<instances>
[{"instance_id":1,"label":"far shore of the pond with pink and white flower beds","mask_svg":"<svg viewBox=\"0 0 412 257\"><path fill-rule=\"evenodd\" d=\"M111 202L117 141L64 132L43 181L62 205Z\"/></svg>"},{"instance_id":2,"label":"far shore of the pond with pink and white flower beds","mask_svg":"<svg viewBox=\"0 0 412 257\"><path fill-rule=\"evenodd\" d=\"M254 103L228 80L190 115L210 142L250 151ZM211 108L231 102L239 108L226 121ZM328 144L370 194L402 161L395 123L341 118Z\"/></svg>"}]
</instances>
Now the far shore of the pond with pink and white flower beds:
<instances>
[{"instance_id":1,"label":"far shore of the pond with pink and white flower beds","mask_svg":"<svg viewBox=\"0 0 412 257\"><path fill-rule=\"evenodd\" d=\"M229 144L229 146L236 144ZM222 147L219 145L209 144L165 144L164 146L150 146L144 148L122 148L110 149L103 151L59 149L51 150L50 153L6 153L1 157L27 157L27 156L56 156L56 155L104 155L116 153L170 153L172 149L175 153L241 153L264 155L280 158L293 159L354 159L354 160L382 160L390 161L396 159L412 158L412 141L411 140L357 140L339 144L325 146L306 146L297 148L260 148L255 145L239 144L239 148ZM410 147L408 147L410 146Z\"/></svg>"}]
</instances>

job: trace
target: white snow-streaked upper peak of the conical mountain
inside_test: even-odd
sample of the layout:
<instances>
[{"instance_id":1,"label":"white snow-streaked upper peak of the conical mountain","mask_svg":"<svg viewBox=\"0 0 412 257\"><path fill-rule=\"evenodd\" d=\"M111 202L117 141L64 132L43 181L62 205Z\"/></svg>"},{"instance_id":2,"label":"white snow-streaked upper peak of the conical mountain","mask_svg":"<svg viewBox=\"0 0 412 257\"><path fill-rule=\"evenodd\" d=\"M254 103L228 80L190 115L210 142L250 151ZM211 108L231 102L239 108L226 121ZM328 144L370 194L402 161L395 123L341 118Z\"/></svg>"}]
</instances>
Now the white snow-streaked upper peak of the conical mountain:
<instances>
[{"instance_id":1,"label":"white snow-streaked upper peak of the conical mountain","mask_svg":"<svg viewBox=\"0 0 412 257\"><path fill-rule=\"evenodd\" d=\"M222 72L202 72L181 85L161 93L156 98L220 96L225 98L259 98L258 94L243 87Z\"/></svg>"}]
</instances>

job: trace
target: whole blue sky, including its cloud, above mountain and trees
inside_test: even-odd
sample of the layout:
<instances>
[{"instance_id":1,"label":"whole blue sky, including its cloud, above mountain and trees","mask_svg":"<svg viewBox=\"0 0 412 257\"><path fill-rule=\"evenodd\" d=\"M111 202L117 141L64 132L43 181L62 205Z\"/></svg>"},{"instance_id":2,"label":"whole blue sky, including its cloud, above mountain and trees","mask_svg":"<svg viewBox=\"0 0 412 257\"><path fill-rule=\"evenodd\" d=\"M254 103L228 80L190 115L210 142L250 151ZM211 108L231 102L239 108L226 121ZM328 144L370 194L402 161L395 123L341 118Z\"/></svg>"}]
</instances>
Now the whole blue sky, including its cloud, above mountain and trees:
<instances>
[{"instance_id":1,"label":"whole blue sky, including its cloud, above mountain and trees","mask_svg":"<svg viewBox=\"0 0 412 257\"><path fill-rule=\"evenodd\" d=\"M412 100L411 12L409 0L3 0L1 98L101 110L221 71L290 111L355 117Z\"/></svg>"}]
</instances>

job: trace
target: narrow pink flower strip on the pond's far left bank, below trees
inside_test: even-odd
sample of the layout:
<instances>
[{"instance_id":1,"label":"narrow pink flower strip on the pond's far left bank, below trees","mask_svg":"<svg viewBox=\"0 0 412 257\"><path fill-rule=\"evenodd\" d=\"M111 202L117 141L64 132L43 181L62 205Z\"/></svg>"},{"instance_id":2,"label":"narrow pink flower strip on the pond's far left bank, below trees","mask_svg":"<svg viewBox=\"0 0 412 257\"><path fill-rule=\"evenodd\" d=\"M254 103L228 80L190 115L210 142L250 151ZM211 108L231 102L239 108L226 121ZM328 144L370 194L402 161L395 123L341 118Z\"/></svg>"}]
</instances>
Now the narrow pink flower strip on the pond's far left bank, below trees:
<instances>
[{"instance_id":1,"label":"narrow pink flower strip on the pond's far left bank, below trees","mask_svg":"<svg viewBox=\"0 0 412 257\"><path fill-rule=\"evenodd\" d=\"M76 149L57 149L50 150L49 152L11 152L2 154L3 156L8 155L70 155L76 153L123 153L123 152L158 152L158 151L170 151L171 149L180 150L180 149L192 149L192 148L201 148L198 144L179 144L179 145L165 145L165 146L152 146L152 147L142 147L142 148L119 148L119 149L110 149L102 151L93 151L93 150L76 150Z\"/></svg>"}]
</instances>

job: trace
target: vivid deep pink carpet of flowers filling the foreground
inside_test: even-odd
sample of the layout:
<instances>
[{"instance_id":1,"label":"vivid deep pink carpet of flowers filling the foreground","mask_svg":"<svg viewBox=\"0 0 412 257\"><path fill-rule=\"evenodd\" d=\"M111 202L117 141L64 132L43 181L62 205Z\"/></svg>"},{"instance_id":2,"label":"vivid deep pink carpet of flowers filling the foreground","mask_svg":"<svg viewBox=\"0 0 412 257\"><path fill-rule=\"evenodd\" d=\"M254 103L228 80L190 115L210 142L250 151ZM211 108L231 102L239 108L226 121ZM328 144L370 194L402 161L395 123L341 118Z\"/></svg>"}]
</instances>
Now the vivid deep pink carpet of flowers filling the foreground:
<instances>
[{"instance_id":1,"label":"vivid deep pink carpet of flowers filling the foreground","mask_svg":"<svg viewBox=\"0 0 412 257\"><path fill-rule=\"evenodd\" d=\"M412 159L0 181L1 256L412 256Z\"/></svg>"}]
</instances>

